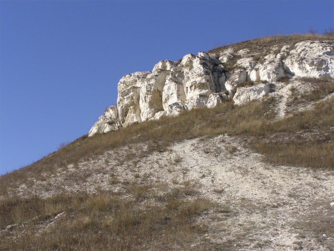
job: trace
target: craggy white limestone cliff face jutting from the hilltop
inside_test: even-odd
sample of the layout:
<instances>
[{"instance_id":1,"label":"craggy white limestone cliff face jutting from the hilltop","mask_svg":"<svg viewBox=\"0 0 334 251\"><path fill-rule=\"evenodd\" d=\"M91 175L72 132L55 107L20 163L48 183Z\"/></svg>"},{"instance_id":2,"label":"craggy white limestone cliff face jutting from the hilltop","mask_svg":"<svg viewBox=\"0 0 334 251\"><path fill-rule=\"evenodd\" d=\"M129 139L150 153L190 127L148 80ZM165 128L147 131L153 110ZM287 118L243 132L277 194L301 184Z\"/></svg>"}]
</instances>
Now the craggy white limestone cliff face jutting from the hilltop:
<instances>
[{"instance_id":1,"label":"craggy white limestone cliff face jutting from the hilltop","mask_svg":"<svg viewBox=\"0 0 334 251\"><path fill-rule=\"evenodd\" d=\"M270 83L281 78L334 77L333 41L302 41L292 50L280 46L260 60L249 55L247 48L218 55L199 52L179 62L160 61L152 71L125 75L118 83L117 106L105 110L89 136L116 130L120 123L128 126L223 100L242 104L272 92ZM255 85L239 87L245 81Z\"/></svg>"}]
</instances>

